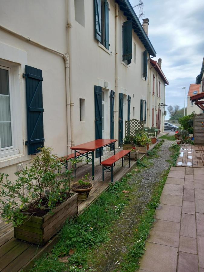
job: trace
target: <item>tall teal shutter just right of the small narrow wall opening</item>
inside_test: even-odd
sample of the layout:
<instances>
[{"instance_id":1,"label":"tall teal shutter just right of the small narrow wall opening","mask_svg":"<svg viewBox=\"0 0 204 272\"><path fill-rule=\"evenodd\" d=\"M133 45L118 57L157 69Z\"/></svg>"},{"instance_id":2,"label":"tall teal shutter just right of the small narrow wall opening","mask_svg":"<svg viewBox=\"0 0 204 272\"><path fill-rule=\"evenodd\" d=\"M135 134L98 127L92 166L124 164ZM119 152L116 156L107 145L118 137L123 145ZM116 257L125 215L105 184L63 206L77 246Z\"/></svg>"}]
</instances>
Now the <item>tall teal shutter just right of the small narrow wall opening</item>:
<instances>
[{"instance_id":1,"label":"tall teal shutter just right of the small narrow wall opening","mask_svg":"<svg viewBox=\"0 0 204 272\"><path fill-rule=\"evenodd\" d=\"M95 101L95 138L102 139L102 87L94 86ZM101 148L101 155L103 154ZM96 149L96 158L99 157L99 148Z\"/></svg>"}]
</instances>

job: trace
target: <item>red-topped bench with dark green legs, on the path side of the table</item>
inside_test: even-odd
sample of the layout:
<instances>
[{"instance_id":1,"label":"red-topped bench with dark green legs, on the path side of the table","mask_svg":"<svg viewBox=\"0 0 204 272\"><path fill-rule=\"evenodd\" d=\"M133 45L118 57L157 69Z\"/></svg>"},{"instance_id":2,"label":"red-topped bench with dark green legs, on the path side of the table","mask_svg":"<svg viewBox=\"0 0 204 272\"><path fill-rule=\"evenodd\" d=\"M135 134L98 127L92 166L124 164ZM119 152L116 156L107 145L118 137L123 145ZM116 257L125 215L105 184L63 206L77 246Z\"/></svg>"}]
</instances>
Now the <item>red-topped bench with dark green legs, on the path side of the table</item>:
<instances>
[{"instance_id":1,"label":"red-topped bench with dark green legs, on the path side of the table","mask_svg":"<svg viewBox=\"0 0 204 272\"><path fill-rule=\"evenodd\" d=\"M117 154L101 162L101 165L103 167L102 168L103 181L104 181L104 172L111 172L111 182L113 182L113 164L115 164L116 161L122 159L122 167L123 167L123 157L126 155L128 155L129 157L129 167L130 167L130 151L131 150L121 150Z\"/></svg>"}]
</instances>

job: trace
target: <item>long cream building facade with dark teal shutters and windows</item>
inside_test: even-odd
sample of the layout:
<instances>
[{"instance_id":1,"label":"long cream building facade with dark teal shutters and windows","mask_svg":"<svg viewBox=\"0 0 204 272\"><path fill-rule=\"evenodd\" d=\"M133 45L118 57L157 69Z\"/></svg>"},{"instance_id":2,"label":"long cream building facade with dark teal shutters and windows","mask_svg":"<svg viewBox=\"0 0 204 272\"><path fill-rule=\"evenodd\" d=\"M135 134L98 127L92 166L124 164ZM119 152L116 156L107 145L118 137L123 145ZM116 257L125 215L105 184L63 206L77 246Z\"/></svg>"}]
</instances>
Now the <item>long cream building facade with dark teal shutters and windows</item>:
<instances>
[{"instance_id":1,"label":"long cream building facade with dark teal shutters and windows","mask_svg":"<svg viewBox=\"0 0 204 272\"><path fill-rule=\"evenodd\" d=\"M43 144L59 156L98 138L121 146L125 121L151 127L153 105L158 125L164 79L150 70L148 19L143 28L128 0L0 5L0 172L12 176ZM160 97L150 91L151 73Z\"/></svg>"}]
</instances>

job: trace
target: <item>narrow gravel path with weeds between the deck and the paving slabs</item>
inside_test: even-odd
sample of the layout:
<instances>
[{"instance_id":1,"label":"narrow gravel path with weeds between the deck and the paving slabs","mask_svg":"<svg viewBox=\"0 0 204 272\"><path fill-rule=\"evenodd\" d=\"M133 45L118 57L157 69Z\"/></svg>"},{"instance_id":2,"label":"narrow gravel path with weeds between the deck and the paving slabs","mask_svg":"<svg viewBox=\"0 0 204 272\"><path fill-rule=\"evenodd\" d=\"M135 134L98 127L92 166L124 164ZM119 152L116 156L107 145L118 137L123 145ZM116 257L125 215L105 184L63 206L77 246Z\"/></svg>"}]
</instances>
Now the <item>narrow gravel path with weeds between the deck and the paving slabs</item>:
<instances>
[{"instance_id":1,"label":"narrow gravel path with weeds between the deck and the paving slabs","mask_svg":"<svg viewBox=\"0 0 204 272\"><path fill-rule=\"evenodd\" d=\"M159 157L149 160L153 165L145 167L140 173L133 173L130 184L134 185L134 192L130 195L130 205L113 225L110 241L96 249L96 264L89 271L117 271L127 247L132 243L135 226L151 198L154 185L160 180L162 172L170 166L166 160L170 160L169 147L172 144L173 141L165 140L157 153Z\"/></svg>"}]
</instances>

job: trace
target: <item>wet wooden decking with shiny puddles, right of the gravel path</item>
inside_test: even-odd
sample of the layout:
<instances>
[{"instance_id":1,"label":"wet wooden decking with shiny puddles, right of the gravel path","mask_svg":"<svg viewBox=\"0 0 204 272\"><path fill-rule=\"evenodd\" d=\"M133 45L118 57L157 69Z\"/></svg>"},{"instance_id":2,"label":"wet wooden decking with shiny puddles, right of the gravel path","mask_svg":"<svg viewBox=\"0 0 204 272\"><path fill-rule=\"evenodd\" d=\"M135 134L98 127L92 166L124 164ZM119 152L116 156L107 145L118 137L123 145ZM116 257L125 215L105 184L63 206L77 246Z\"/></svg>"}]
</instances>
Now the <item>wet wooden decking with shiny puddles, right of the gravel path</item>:
<instances>
[{"instance_id":1,"label":"wet wooden decking with shiny puddles, right of the gravel path","mask_svg":"<svg viewBox=\"0 0 204 272\"><path fill-rule=\"evenodd\" d=\"M204 145L182 144L176 166L204 168Z\"/></svg>"}]
</instances>

